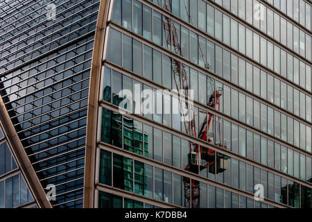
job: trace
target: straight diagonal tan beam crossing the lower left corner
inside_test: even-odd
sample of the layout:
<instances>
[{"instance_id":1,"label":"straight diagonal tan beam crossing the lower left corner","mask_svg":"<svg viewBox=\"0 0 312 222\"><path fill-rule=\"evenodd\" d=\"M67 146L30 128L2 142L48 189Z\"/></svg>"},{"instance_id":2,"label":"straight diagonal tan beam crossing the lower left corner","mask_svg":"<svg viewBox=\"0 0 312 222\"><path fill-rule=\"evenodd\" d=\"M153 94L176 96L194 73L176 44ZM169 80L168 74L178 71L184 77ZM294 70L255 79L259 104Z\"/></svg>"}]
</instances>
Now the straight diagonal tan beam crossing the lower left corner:
<instances>
[{"instance_id":1,"label":"straight diagonal tan beam crossing the lower left corner","mask_svg":"<svg viewBox=\"0 0 312 222\"><path fill-rule=\"evenodd\" d=\"M31 165L31 161L29 160L26 151L19 140L17 132L13 126L12 121L10 120L10 116L6 110L6 106L3 103L3 100L0 96L0 121L3 125L3 130L6 133L6 137L8 138L8 142L12 147L12 153L17 160L17 164L21 168L21 172L26 180L28 188L31 189L31 192L41 208L52 208L50 201L46 198L46 194L44 193L44 189L40 183L35 170L33 169L33 165Z\"/></svg>"}]
</instances>

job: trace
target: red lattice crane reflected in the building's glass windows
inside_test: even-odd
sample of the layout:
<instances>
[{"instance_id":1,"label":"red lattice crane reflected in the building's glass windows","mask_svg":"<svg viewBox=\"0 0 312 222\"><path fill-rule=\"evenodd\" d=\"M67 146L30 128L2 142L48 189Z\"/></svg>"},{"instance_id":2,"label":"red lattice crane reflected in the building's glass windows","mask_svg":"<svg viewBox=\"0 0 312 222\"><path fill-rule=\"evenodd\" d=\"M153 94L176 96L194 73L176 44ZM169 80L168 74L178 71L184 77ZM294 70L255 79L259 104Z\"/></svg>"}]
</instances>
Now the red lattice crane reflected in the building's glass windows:
<instances>
[{"instance_id":1,"label":"red lattice crane reflected in the building's glass windows","mask_svg":"<svg viewBox=\"0 0 312 222\"><path fill-rule=\"evenodd\" d=\"M162 6L169 12L171 12L171 0L164 0L163 4L159 3L159 6ZM187 11L187 15L189 16L189 12L187 8L185 7L185 10ZM190 22L191 22L191 17ZM164 38L166 40L166 46L168 49L171 49L175 53L177 53L180 56L182 55L182 50L179 42L179 37L177 35L177 28L174 24L171 23L171 19L168 17L164 17L162 19L162 25L164 28ZM202 49L200 47L200 44L198 44L198 49L200 51L200 56L202 56L202 60L205 61L205 56L202 53ZM205 67L207 69L210 69L210 66L206 63ZM184 69L184 66L180 64L175 59L172 59L172 71L173 71L173 77L175 79L175 86L177 87L177 92L185 96L185 99L191 99L189 95L189 83L188 83L188 76L187 71ZM210 96L208 104L211 108L220 110L220 96L222 95L222 88L214 90L214 93ZM193 137L197 137L196 134L196 121L195 121L195 112L193 110L193 106L189 105L187 101L182 101L179 99L180 103L180 110L182 117L185 117L187 113L186 110L189 110L189 116L191 115L193 118L191 118L191 121L184 121L184 127L186 130L186 133L189 133ZM205 112L205 111L204 111ZM206 113L206 112L205 112ZM208 131L210 127L210 123L212 121L212 135L208 138ZM208 142L214 142L214 114L209 114L208 119L205 118L205 121L202 123L202 126L200 128L200 131L198 133L198 137L200 139L203 139ZM220 137L220 121L218 121L218 135ZM212 139L211 139L212 138ZM220 144L216 144L217 146L224 147L223 143L220 142ZM190 152L189 152L189 163L184 168L186 171L191 171L193 173L199 173L202 171L202 169L207 169L211 164L215 163L215 151L206 148L204 146L200 146L198 144L193 144L190 142ZM214 169L212 169L214 171ZM200 183L196 180L191 180L187 177L183 178L184 183L184 207L193 207L198 208L200 207Z\"/></svg>"}]
</instances>

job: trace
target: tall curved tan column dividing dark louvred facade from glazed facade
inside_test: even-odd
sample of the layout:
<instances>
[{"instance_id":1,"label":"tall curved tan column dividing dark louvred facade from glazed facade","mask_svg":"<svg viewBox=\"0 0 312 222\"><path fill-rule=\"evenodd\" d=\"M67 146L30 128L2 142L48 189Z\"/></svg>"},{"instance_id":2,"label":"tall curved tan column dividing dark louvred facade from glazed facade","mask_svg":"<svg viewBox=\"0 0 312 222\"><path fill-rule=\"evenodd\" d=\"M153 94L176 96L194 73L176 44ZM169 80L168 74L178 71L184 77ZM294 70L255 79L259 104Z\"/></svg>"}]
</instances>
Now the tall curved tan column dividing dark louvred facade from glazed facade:
<instances>
[{"instance_id":1,"label":"tall curved tan column dividing dark louvred facade from glazed facade","mask_svg":"<svg viewBox=\"0 0 312 222\"><path fill-rule=\"evenodd\" d=\"M104 37L106 31L110 0L101 0L98 10L98 22L94 37L92 67L89 83L89 101L87 110L87 141L85 150L85 181L83 187L83 207L94 207L94 176L96 162L96 128L98 121L98 92L101 79Z\"/></svg>"}]
</instances>

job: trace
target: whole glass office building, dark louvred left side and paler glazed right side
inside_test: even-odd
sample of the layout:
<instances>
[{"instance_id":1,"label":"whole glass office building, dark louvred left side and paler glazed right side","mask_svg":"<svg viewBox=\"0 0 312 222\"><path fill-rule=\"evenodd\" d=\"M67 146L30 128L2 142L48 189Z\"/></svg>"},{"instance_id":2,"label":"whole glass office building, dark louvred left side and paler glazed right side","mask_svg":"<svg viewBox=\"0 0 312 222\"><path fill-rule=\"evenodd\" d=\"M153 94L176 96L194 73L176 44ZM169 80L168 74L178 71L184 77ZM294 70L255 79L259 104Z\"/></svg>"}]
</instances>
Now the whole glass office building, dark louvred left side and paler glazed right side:
<instances>
[{"instance_id":1,"label":"whole glass office building, dark louvred left side and paler glazed right side","mask_svg":"<svg viewBox=\"0 0 312 222\"><path fill-rule=\"evenodd\" d=\"M312 1L40 3L0 3L0 92L51 207L312 207Z\"/></svg>"}]
</instances>

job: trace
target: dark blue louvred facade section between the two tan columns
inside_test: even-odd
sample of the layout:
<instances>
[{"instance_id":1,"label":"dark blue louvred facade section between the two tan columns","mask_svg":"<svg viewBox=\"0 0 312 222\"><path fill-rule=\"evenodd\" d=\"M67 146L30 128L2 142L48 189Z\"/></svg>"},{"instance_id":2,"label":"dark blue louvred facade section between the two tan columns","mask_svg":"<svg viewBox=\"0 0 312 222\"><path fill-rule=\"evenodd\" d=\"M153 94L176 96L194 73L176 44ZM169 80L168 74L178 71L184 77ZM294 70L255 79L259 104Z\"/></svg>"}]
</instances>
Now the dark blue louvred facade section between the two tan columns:
<instances>
[{"instance_id":1,"label":"dark blue louvred facade section between the two tan columns","mask_svg":"<svg viewBox=\"0 0 312 222\"><path fill-rule=\"evenodd\" d=\"M42 187L56 186L54 207L83 205L89 71L98 6L98 0L0 5L1 96Z\"/></svg>"}]
</instances>

